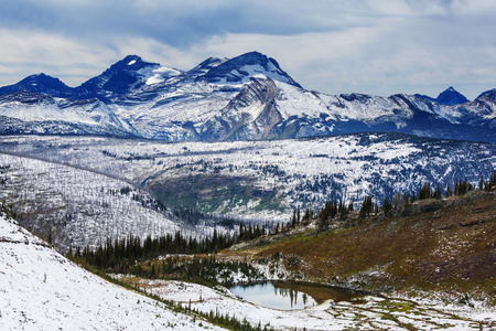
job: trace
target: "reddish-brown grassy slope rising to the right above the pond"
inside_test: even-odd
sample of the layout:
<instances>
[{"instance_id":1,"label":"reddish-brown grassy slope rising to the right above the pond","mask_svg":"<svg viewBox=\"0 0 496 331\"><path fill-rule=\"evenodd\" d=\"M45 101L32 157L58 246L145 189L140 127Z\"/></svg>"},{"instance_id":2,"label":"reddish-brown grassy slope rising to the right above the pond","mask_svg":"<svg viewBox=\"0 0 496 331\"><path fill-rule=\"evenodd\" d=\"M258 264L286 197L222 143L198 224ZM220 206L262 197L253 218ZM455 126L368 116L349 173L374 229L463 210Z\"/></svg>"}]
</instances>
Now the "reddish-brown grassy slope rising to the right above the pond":
<instances>
[{"instance_id":1,"label":"reddish-brown grassy slope rising to the right above the pond","mask_svg":"<svg viewBox=\"0 0 496 331\"><path fill-rule=\"evenodd\" d=\"M301 263L290 270L367 290L435 289L495 298L496 194L473 191L443 203L419 203L409 216L370 217L354 226L348 221L324 232L309 228L224 254L296 255Z\"/></svg>"}]
</instances>

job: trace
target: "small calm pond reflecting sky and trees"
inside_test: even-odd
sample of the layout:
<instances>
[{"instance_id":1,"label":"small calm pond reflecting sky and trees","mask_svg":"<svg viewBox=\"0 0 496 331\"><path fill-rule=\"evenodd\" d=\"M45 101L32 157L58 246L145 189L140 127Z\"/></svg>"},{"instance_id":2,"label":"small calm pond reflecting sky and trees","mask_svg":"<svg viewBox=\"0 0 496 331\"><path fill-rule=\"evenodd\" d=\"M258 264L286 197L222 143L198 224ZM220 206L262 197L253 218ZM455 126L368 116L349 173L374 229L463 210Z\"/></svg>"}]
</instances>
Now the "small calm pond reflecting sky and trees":
<instances>
[{"instance_id":1,"label":"small calm pond reflecting sky and trees","mask_svg":"<svg viewBox=\"0 0 496 331\"><path fill-rule=\"evenodd\" d=\"M303 309L330 299L348 301L357 297L356 293L346 289L283 281L236 285L229 289L235 296L246 301L282 310Z\"/></svg>"}]
</instances>

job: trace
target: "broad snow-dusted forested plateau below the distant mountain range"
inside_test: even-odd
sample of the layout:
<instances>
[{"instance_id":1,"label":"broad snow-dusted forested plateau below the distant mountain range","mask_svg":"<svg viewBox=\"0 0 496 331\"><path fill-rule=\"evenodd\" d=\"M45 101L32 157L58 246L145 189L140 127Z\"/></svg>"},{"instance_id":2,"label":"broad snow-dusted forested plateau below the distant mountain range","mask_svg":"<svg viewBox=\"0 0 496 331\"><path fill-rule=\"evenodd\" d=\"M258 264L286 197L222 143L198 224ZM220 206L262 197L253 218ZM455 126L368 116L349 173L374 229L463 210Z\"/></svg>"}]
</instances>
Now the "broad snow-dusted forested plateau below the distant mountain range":
<instances>
[{"instance_id":1,"label":"broad snow-dusted forested plateau below the distant mountain range","mask_svg":"<svg viewBox=\"0 0 496 331\"><path fill-rule=\"evenodd\" d=\"M496 169L496 146L402 134L274 141L181 142L6 137L0 150L93 169L148 186L166 205L267 220L328 199L360 204L425 183L444 191Z\"/></svg>"}]
</instances>

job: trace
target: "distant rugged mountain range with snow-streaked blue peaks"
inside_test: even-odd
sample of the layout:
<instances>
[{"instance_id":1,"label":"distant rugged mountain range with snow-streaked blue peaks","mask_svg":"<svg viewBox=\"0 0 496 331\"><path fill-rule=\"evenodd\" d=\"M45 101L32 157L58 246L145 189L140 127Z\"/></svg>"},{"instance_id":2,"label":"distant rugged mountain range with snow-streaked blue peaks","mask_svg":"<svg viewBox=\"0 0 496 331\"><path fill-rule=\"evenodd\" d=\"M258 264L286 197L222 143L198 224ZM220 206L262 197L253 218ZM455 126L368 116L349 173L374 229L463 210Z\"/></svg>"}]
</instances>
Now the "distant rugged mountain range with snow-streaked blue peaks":
<instances>
[{"instance_id":1,"label":"distant rugged mountain range with snow-streaked blue peaks","mask_svg":"<svg viewBox=\"0 0 496 331\"><path fill-rule=\"evenodd\" d=\"M0 88L0 134L105 135L168 141L283 139L363 131L496 142L496 89L468 102L306 90L258 52L184 72L129 55L68 87L44 74Z\"/></svg>"}]
</instances>

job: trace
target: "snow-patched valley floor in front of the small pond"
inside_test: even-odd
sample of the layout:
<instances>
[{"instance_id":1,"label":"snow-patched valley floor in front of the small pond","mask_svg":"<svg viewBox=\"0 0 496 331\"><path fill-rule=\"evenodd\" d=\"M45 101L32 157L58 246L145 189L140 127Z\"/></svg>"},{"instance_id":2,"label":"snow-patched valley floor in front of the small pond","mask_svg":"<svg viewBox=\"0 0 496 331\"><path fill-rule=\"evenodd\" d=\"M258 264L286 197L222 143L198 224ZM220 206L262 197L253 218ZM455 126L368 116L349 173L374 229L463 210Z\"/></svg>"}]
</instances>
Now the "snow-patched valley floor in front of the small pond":
<instances>
[{"instance_id":1,"label":"snow-patched valley floor in front of the small pond","mask_svg":"<svg viewBox=\"0 0 496 331\"><path fill-rule=\"evenodd\" d=\"M495 308L366 296L349 302L330 300L300 310L278 310L244 301L224 287L212 289L122 275L118 278L162 299L181 302L183 307L246 318L251 324L270 325L276 330L496 330Z\"/></svg>"}]
</instances>

